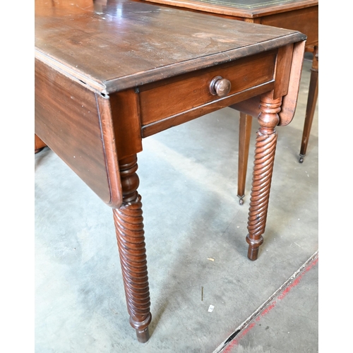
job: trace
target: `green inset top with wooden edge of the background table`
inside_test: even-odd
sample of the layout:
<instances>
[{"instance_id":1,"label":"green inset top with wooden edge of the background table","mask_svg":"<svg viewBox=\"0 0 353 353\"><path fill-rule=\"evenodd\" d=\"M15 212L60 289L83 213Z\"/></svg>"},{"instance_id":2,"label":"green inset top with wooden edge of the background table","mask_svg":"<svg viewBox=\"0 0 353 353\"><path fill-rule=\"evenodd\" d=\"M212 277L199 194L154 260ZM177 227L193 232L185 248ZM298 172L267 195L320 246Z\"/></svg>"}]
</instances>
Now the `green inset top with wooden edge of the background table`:
<instances>
[{"instance_id":1,"label":"green inset top with wooden edge of the background table","mask_svg":"<svg viewBox=\"0 0 353 353\"><path fill-rule=\"evenodd\" d=\"M318 0L145 0L239 18L258 18L317 6Z\"/></svg>"}]
</instances>

